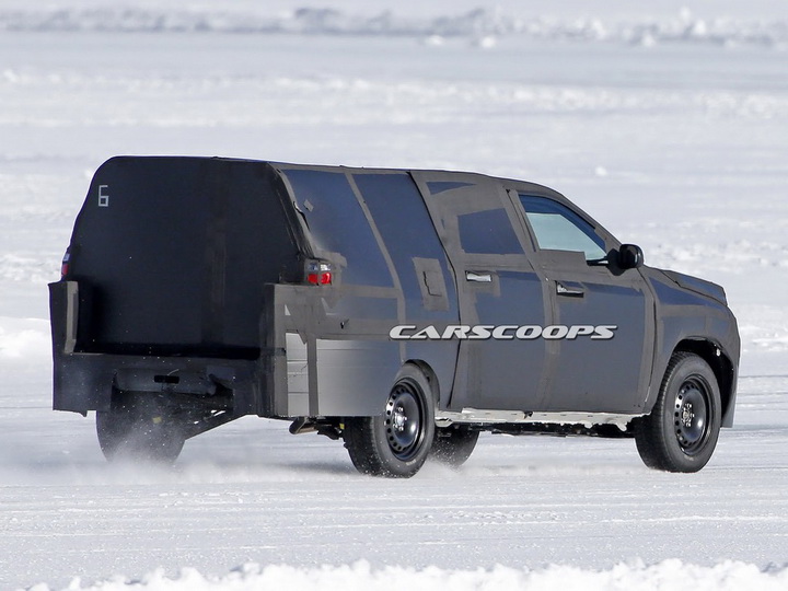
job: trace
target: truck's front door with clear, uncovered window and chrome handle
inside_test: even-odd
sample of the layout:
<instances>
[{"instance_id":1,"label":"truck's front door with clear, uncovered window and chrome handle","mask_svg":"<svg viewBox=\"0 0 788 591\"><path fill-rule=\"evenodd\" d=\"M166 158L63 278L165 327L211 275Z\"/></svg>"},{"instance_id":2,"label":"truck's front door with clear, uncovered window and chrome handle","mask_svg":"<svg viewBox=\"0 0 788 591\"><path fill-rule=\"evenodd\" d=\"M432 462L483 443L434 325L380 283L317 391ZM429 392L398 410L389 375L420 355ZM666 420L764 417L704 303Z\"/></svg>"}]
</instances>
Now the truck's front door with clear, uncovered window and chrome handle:
<instances>
[{"instance_id":1,"label":"truck's front door with clear, uncovered window and chrome handle","mask_svg":"<svg viewBox=\"0 0 788 591\"><path fill-rule=\"evenodd\" d=\"M555 359L546 410L637 413L653 358L654 302L638 269L607 260L618 243L570 204L511 190L551 300Z\"/></svg>"}]
</instances>

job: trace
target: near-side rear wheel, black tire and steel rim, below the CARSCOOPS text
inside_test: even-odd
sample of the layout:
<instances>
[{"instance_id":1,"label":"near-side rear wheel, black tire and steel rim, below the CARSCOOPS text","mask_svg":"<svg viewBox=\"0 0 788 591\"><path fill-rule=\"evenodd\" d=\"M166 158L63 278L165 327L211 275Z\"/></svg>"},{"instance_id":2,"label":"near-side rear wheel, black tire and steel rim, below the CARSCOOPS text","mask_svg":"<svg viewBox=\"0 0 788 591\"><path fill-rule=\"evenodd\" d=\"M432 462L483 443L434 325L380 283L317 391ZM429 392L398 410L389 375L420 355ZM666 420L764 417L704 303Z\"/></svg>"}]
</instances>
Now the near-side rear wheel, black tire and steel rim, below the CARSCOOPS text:
<instances>
[{"instance_id":1,"label":"near-side rear wheel, black tire and steel rim, below the CARSCOOPS text","mask_svg":"<svg viewBox=\"0 0 788 591\"><path fill-rule=\"evenodd\" d=\"M404 366L376 417L344 419L345 447L356 470L409 478L424 465L434 437L434 397L424 373Z\"/></svg>"}]
</instances>

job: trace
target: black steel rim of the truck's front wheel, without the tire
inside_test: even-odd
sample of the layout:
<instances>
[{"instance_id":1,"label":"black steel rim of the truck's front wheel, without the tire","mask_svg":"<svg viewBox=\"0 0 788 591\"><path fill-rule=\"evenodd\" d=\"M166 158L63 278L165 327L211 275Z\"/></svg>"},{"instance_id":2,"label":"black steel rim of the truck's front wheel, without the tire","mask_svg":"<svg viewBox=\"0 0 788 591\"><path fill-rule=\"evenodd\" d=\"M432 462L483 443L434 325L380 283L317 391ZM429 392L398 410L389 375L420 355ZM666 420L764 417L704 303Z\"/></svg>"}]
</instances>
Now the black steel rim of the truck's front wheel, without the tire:
<instances>
[{"instance_id":1,"label":"black steel rim of the truck's front wheel, without the tire","mask_svg":"<svg viewBox=\"0 0 788 591\"><path fill-rule=\"evenodd\" d=\"M709 436L709 385L699 375L682 383L675 397L673 425L679 445L687 455L699 452Z\"/></svg>"}]
</instances>

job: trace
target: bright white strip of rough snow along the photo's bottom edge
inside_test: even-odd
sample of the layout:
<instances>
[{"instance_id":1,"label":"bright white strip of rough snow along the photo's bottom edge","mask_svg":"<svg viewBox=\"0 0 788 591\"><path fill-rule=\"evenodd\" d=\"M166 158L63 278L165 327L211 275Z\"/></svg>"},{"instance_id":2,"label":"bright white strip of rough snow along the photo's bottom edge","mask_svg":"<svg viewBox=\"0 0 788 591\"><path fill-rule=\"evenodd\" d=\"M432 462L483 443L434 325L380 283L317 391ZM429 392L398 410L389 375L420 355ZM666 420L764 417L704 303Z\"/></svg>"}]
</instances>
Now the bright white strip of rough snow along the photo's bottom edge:
<instances>
[{"instance_id":1,"label":"bright white strip of rough snow along the photo's bottom edge","mask_svg":"<svg viewBox=\"0 0 788 591\"><path fill-rule=\"evenodd\" d=\"M68 589L114 591L143 589L148 591L242 591L267 589L344 591L378 591L408 589L408 591L482 590L540 590L540 591L586 591L600 590L660 590L695 589L698 591L728 591L758 589L758 591L784 590L788 588L788 566L761 570L752 564L725 561L714 567L687 565L677 559L664 560L657 565L619 564L610 570L583 570L580 568L551 565L538 570L514 569L496 566L491 569L443 570L428 567L421 570L403 567L372 568L367 561L336 567L296 568L291 566L244 565L230 573L213 578L185 568L174 578L157 570L139 580L115 577L81 587L74 579ZM46 591L46 584L33 587L31 591Z\"/></svg>"}]
</instances>

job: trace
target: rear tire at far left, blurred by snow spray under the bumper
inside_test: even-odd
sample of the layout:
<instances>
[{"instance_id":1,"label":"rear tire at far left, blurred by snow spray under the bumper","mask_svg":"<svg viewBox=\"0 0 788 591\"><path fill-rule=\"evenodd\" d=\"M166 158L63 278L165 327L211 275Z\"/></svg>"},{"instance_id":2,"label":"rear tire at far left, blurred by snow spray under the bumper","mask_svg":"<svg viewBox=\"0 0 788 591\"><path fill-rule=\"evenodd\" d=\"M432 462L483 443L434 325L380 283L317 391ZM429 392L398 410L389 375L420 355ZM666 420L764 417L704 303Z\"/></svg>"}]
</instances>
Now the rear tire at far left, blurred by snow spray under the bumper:
<instances>
[{"instance_id":1,"label":"rear tire at far left, blurred by snow spray under the bumper","mask_svg":"<svg viewBox=\"0 0 788 591\"><path fill-rule=\"evenodd\" d=\"M171 410L153 394L117 392L109 410L96 412L96 434L104 457L173 464L186 438Z\"/></svg>"}]
</instances>

